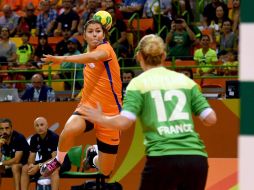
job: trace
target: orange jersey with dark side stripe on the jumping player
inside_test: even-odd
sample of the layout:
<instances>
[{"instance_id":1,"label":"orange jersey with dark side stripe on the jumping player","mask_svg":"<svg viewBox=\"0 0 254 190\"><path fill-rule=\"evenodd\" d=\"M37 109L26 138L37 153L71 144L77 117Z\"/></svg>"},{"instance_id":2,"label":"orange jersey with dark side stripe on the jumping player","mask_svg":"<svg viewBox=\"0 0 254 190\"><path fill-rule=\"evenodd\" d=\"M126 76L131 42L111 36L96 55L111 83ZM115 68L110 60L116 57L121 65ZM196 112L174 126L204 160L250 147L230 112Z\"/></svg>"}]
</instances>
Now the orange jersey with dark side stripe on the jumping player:
<instances>
[{"instance_id":1,"label":"orange jersey with dark side stripe on the jumping player","mask_svg":"<svg viewBox=\"0 0 254 190\"><path fill-rule=\"evenodd\" d=\"M84 68L84 88L79 105L92 107L99 102L107 115L120 112L122 106L122 81L116 54L108 42L100 44L95 50L107 52L107 59L88 63ZM80 111L78 108L76 111ZM82 111L80 111L82 113Z\"/></svg>"}]
</instances>

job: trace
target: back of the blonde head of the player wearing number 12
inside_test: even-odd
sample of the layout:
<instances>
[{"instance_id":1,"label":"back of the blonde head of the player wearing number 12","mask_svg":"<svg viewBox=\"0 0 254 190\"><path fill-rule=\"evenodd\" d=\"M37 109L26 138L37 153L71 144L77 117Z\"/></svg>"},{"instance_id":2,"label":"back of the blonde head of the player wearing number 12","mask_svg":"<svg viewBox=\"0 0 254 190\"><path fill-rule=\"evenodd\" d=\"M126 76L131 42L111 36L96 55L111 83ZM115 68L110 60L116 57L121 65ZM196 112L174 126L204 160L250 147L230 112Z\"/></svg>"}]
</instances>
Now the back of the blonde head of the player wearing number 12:
<instances>
[{"instance_id":1,"label":"back of the blonde head of the player wearing number 12","mask_svg":"<svg viewBox=\"0 0 254 190\"><path fill-rule=\"evenodd\" d=\"M165 52L165 43L161 37L149 34L140 40L138 51L142 54L145 64L159 65Z\"/></svg>"}]
</instances>

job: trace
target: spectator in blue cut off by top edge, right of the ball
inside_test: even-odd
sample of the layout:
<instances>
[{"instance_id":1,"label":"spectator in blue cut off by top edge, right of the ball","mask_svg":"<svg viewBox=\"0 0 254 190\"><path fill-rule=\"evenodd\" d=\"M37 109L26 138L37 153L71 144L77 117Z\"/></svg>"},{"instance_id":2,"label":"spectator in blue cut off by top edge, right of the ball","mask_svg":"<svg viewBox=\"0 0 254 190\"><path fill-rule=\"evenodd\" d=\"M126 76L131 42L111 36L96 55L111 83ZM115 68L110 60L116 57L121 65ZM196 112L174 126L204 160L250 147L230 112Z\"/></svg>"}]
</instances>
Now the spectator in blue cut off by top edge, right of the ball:
<instances>
[{"instance_id":1,"label":"spectator in blue cut off by top edge, right of the ball","mask_svg":"<svg viewBox=\"0 0 254 190\"><path fill-rule=\"evenodd\" d=\"M138 13L139 18L142 17L145 0L126 0L120 6L120 11L124 19L129 19L134 13Z\"/></svg>"}]
</instances>

